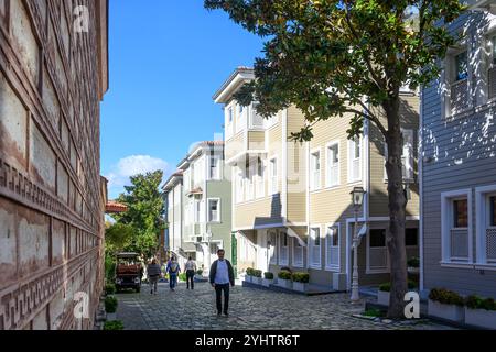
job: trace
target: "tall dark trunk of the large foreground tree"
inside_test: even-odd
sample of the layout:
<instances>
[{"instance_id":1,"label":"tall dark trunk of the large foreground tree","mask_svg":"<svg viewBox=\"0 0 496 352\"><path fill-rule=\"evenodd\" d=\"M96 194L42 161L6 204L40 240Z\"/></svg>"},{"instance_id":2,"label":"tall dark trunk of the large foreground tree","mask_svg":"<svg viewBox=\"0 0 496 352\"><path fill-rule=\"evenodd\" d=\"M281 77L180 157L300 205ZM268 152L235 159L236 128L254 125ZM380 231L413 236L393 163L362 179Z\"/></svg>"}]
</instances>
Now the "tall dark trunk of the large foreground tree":
<instances>
[{"instance_id":1,"label":"tall dark trunk of the large foreground tree","mask_svg":"<svg viewBox=\"0 0 496 352\"><path fill-rule=\"evenodd\" d=\"M399 98L392 99L385 106L388 119L388 160L386 170L388 174L389 197L389 231L387 245L391 261L391 292L388 318L405 318L405 294L408 290L407 250L405 245L405 226L407 197L403 190L402 177L402 135L399 117Z\"/></svg>"}]
</instances>

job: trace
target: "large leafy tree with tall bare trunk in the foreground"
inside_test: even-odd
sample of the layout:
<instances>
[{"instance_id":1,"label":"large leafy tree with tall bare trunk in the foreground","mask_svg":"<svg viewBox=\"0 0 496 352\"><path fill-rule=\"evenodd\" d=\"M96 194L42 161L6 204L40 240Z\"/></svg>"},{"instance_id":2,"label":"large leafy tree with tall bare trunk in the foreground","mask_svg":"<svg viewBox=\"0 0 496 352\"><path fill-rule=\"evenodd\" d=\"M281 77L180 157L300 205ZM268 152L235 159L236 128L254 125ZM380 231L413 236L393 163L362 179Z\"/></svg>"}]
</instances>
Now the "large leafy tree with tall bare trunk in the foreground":
<instances>
[{"instance_id":1,"label":"large leafy tree with tall bare trunk in the foreground","mask_svg":"<svg viewBox=\"0 0 496 352\"><path fill-rule=\"evenodd\" d=\"M454 21L457 0L205 0L267 40L255 63L256 80L236 98L257 100L270 117L294 105L306 125L292 138L312 139L317 121L351 118L348 138L368 119L388 147L391 300L388 316L403 315L407 292L407 197L401 173L400 87L417 89L438 77L438 59L457 40L440 23ZM384 119L381 117L385 117Z\"/></svg>"}]
</instances>

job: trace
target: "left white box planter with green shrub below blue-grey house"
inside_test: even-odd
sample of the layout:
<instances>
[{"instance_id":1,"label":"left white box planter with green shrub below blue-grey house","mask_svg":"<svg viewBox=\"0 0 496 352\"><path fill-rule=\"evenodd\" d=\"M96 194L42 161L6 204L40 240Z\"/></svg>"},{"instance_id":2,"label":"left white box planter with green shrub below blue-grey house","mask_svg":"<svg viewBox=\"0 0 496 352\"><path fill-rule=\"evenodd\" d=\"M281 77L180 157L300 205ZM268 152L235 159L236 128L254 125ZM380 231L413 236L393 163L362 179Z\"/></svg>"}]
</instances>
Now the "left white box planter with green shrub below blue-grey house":
<instances>
[{"instance_id":1,"label":"left white box planter with green shrub below blue-grey house","mask_svg":"<svg viewBox=\"0 0 496 352\"><path fill-rule=\"evenodd\" d=\"M455 292L445 288L433 288L429 294L429 316L463 322L465 318L463 306L463 297Z\"/></svg>"}]
</instances>

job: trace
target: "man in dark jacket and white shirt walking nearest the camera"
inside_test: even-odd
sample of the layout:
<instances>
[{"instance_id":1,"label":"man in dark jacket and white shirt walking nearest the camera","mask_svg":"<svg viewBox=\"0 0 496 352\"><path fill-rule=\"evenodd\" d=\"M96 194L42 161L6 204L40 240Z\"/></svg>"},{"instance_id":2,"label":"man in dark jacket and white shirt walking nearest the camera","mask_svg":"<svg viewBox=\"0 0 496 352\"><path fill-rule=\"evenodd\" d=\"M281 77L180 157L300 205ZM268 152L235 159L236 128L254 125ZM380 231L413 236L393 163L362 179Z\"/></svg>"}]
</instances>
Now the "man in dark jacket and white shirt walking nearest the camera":
<instances>
[{"instance_id":1,"label":"man in dark jacket and white shirt walking nearest the camera","mask_svg":"<svg viewBox=\"0 0 496 352\"><path fill-rule=\"evenodd\" d=\"M228 260L224 258L226 252L224 250L217 251L218 260L212 263L209 280L212 287L215 288L215 296L217 302L217 316L223 312L222 294L224 292L224 315L227 317L229 309L229 284L235 285L233 265Z\"/></svg>"}]
</instances>

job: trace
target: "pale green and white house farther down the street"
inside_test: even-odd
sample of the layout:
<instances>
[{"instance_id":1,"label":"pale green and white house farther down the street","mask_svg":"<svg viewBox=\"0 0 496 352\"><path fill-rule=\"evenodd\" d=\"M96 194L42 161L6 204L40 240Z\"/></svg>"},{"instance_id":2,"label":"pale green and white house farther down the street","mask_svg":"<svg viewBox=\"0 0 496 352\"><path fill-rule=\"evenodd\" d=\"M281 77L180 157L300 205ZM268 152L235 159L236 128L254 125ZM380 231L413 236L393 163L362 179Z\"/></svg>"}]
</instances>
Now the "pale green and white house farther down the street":
<instances>
[{"instance_id":1,"label":"pale green and white house farther down the street","mask_svg":"<svg viewBox=\"0 0 496 352\"><path fill-rule=\"evenodd\" d=\"M230 180L224 173L224 142L201 142L164 185L170 248L208 270L224 249L231 258Z\"/></svg>"}]
</instances>

